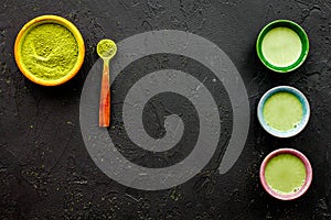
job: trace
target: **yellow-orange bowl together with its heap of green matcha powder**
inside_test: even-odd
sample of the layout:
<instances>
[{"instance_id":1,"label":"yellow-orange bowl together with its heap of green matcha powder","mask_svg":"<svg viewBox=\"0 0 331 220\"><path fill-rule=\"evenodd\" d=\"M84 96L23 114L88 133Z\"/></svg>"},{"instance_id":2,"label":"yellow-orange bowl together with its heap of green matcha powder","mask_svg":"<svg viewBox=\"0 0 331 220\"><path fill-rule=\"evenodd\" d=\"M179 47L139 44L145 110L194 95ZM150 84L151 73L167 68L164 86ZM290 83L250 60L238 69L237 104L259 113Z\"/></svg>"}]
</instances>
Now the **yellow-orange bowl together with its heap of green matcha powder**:
<instances>
[{"instance_id":1,"label":"yellow-orange bowl together with its heap of green matcha powder","mask_svg":"<svg viewBox=\"0 0 331 220\"><path fill-rule=\"evenodd\" d=\"M56 86L70 80L84 61L84 41L67 20L39 16L26 23L15 42L15 61L32 81Z\"/></svg>"}]
</instances>

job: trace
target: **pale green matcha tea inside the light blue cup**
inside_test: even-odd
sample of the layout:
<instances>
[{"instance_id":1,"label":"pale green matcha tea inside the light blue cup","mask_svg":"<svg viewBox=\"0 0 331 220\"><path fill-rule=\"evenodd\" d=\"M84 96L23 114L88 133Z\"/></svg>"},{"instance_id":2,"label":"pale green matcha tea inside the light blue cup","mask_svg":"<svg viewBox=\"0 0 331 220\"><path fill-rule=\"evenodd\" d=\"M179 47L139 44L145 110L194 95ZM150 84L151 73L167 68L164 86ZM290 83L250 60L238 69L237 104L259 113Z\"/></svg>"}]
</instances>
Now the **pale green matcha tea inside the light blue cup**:
<instances>
[{"instance_id":1,"label":"pale green matcha tea inside the light blue cup","mask_svg":"<svg viewBox=\"0 0 331 220\"><path fill-rule=\"evenodd\" d=\"M295 129L301 121L303 108L292 94L281 91L267 99L263 109L266 123L278 131Z\"/></svg>"}]
</instances>

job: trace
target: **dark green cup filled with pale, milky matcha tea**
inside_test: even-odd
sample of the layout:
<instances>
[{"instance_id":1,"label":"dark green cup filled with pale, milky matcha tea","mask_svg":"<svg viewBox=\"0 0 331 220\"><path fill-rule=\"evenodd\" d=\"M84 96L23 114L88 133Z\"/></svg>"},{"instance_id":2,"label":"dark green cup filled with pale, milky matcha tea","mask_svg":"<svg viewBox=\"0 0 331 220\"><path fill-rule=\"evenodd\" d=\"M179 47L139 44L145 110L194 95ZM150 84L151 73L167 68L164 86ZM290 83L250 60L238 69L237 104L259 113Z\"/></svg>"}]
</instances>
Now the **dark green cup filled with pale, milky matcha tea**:
<instances>
[{"instance_id":1,"label":"dark green cup filled with pale, milky matcha tea","mask_svg":"<svg viewBox=\"0 0 331 220\"><path fill-rule=\"evenodd\" d=\"M276 20L260 31L256 51L267 68L288 73L297 69L306 61L309 40L299 24L289 20Z\"/></svg>"}]
</instances>

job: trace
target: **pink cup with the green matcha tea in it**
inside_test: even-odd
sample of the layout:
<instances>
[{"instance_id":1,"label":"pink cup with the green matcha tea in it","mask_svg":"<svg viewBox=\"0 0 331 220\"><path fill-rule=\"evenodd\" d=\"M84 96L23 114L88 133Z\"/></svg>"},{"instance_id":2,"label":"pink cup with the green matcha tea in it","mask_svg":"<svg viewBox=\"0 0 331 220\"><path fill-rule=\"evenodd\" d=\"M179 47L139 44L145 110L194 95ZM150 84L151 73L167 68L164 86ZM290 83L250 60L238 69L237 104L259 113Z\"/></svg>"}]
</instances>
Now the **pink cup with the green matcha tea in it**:
<instances>
[{"instance_id":1,"label":"pink cup with the green matcha tea in it","mask_svg":"<svg viewBox=\"0 0 331 220\"><path fill-rule=\"evenodd\" d=\"M280 200L302 196L312 180L312 168L308 158L293 148L280 148L264 160L259 177L265 190Z\"/></svg>"}]
</instances>

